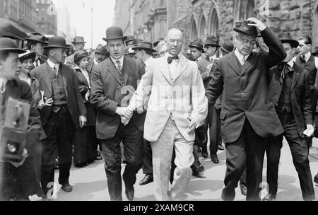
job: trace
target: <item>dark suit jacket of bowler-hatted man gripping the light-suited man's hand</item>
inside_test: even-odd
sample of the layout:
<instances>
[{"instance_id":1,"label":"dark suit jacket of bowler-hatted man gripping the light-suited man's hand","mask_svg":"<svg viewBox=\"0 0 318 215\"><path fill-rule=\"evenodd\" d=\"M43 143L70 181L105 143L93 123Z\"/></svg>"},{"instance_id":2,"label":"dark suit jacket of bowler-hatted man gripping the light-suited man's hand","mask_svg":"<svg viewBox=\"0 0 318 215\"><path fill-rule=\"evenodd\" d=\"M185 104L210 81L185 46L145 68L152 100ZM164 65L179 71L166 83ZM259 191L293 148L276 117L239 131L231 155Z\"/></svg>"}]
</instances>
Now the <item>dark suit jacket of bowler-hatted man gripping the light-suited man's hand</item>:
<instances>
[{"instance_id":1,"label":"dark suit jacket of bowler-hatted man gripping the light-suited man's hand","mask_svg":"<svg viewBox=\"0 0 318 215\"><path fill-rule=\"evenodd\" d=\"M90 103L97 109L96 134L98 139L112 139L121 124L119 115L115 114L123 98L132 96L138 81L145 73L143 64L135 59L124 57L125 86L119 78L119 71L111 58L93 67L91 76ZM128 95L128 97L126 96ZM129 100L126 100L129 103ZM129 104L126 104L129 105ZM143 132L145 115L134 112L131 121Z\"/></svg>"}]
</instances>

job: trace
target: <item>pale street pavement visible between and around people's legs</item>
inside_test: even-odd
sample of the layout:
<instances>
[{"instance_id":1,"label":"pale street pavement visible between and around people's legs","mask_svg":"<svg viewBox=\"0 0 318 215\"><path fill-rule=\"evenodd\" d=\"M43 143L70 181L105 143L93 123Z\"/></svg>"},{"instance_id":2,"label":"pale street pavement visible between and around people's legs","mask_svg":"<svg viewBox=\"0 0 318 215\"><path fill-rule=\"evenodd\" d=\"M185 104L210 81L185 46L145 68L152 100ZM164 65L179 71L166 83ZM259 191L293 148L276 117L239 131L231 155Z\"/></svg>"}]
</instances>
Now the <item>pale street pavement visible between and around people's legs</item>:
<instances>
[{"instance_id":1,"label":"pale street pavement visible between and around people's legs","mask_svg":"<svg viewBox=\"0 0 318 215\"><path fill-rule=\"evenodd\" d=\"M225 151L218 151L220 163L215 165L209 158L200 158L205 170L201 178L192 177L189 182L189 190L187 190L187 200L189 201L220 201L223 189L223 179L225 175ZM124 165L122 165L124 168ZM310 168L312 177L318 172L318 140L314 139L312 148L310 149ZM266 158L264 161L264 173L266 175ZM58 171L55 173L55 182L57 182ZM142 170L137 175L135 185L136 201L154 201L153 183L139 186L139 181L143 178ZM266 181L266 176L264 176ZM109 201L110 197L107 191L106 174L103 161L95 161L86 168L71 168L70 183L73 186L73 192L66 193L57 185L57 201ZM314 186L316 198L318 197L318 187ZM124 194L122 197L126 201ZM240 187L236 189L235 200L245 200L240 192ZM293 166L288 144L284 141L281 153L281 164L279 166L278 176L278 201L301 201L302 194L298 175Z\"/></svg>"}]
</instances>

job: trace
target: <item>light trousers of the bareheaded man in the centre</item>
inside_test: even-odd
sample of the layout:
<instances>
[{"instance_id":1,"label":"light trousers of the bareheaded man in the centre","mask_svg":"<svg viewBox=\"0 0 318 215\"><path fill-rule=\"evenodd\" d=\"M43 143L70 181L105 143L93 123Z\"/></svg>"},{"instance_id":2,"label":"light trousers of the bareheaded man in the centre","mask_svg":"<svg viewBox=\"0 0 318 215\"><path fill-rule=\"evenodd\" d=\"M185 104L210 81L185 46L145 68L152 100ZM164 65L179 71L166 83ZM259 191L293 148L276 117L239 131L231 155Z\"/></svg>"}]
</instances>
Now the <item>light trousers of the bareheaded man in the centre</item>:
<instances>
[{"instance_id":1,"label":"light trousers of the bareheaded man in the centre","mask_svg":"<svg viewBox=\"0 0 318 215\"><path fill-rule=\"evenodd\" d=\"M158 141L151 142L153 151L153 183L155 199L158 201L180 201L192 175L194 162L193 141L187 141L177 129L175 122L169 118ZM175 147L174 180L170 185L170 168L173 148Z\"/></svg>"}]
</instances>

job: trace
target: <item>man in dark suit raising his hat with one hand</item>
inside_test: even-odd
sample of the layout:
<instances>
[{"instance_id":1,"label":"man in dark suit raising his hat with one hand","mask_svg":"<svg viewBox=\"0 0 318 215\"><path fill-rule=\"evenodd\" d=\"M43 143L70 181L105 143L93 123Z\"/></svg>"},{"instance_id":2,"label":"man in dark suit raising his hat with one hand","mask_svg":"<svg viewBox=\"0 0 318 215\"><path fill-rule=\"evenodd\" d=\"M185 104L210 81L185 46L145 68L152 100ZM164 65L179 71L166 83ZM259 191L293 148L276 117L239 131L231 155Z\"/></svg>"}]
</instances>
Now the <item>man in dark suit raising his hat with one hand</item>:
<instances>
[{"instance_id":1,"label":"man in dark suit raising his hat with one hand","mask_svg":"<svg viewBox=\"0 0 318 215\"><path fill-rule=\"evenodd\" d=\"M252 52L257 29L269 46L269 53ZM286 54L281 41L256 18L248 18L234 30L238 32L237 48L216 62L206 96L213 105L223 92L220 119L227 170L222 198L235 198L235 187L246 164L247 200L259 200L266 137L283 133L269 100L267 73Z\"/></svg>"}]
</instances>

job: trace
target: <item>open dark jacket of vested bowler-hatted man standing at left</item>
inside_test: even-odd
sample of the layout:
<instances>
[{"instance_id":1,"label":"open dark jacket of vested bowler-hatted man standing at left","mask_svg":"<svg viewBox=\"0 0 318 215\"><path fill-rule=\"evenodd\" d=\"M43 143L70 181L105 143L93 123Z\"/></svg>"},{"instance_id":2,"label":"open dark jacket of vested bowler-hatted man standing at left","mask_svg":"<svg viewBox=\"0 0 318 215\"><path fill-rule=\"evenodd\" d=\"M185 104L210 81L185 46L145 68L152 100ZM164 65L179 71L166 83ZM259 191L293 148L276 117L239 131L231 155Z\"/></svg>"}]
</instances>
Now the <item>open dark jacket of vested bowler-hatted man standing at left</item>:
<instances>
[{"instance_id":1,"label":"open dark jacket of vested bowler-hatted man standing at left","mask_svg":"<svg viewBox=\"0 0 318 215\"><path fill-rule=\"evenodd\" d=\"M81 97L81 93L78 89L78 82L75 76L75 71L66 64L61 64L59 71L62 71L64 90L67 98L67 108L72 117L74 126L79 128L79 115L86 115L86 108ZM46 98L52 98L52 81L49 76L49 64L47 62L33 69L31 76L35 77L40 83L40 91L44 91ZM41 120L43 126L49 120L49 116L52 113L52 106L45 106L40 110Z\"/></svg>"}]
</instances>

